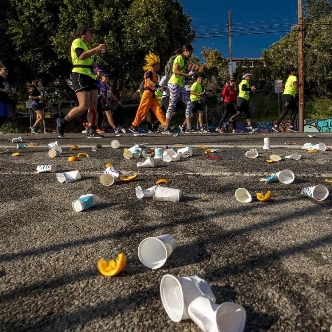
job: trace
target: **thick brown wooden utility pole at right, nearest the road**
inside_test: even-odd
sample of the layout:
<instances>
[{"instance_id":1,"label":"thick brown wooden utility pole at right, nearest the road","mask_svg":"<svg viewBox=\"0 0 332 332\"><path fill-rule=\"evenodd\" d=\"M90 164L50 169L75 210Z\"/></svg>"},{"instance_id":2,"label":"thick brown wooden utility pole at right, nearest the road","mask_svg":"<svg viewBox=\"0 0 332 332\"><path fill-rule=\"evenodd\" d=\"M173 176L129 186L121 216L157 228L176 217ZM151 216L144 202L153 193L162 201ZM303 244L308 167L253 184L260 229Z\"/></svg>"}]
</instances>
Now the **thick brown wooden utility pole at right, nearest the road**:
<instances>
[{"instance_id":1,"label":"thick brown wooden utility pole at right, nearest the road","mask_svg":"<svg viewBox=\"0 0 332 332\"><path fill-rule=\"evenodd\" d=\"M303 75L303 15L302 0L298 0L298 83L304 82ZM304 132L304 87L298 89L299 132Z\"/></svg>"}]
</instances>

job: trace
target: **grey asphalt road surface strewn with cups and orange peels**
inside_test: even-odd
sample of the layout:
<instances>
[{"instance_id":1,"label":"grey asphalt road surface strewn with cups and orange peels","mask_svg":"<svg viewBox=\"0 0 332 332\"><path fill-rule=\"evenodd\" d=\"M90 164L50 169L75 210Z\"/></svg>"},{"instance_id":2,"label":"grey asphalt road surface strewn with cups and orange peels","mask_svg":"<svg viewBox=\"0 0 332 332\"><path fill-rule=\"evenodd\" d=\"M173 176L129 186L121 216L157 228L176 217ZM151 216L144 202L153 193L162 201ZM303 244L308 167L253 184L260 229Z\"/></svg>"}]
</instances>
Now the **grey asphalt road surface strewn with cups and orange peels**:
<instances>
[{"instance_id":1,"label":"grey asphalt road surface strewn with cups and orange peels","mask_svg":"<svg viewBox=\"0 0 332 332\"><path fill-rule=\"evenodd\" d=\"M39 146L16 149L11 139ZM332 197L301 196L301 188L324 184L332 192L332 151L308 153L304 143L332 146L332 134L146 135L117 138L123 147L191 145L194 155L177 163L155 160L155 168L137 168L123 148L111 149L114 134L87 140L83 135L1 135L0 151L0 330L1 331L200 331L191 320L174 323L160 299L165 274L197 275L207 281L216 303L235 302L247 313L245 331L330 331L332 324ZM270 137L271 150L263 150ZM47 144L59 140L62 154L51 159ZM100 143L102 150L91 152ZM70 163L77 152L90 158ZM206 147L222 152L208 159ZM256 147L259 157L244 153ZM149 150L149 149L148 149ZM20 152L19 157L12 153ZM302 154L298 161L284 157ZM283 159L266 163L271 154ZM105 164L133 182L105 187ZM55 164L58 171L79 170L82 178L59 183L36 166ZM259 179L290 169L291 184ZM201 175L186 175L195 172ZM137 199L135 187L148 188L159 178L182 190L180 202ZM252 194L251 203L235 199L236 188ZM271 190L267 203L256 192ZM97 204L75 212L71 202L93 193ZM158 270L144 267L137 247L148 236L172 234L177 247ZM127 257L125 269L105 277L100 257Z\"/></svg>"}]
</instances>

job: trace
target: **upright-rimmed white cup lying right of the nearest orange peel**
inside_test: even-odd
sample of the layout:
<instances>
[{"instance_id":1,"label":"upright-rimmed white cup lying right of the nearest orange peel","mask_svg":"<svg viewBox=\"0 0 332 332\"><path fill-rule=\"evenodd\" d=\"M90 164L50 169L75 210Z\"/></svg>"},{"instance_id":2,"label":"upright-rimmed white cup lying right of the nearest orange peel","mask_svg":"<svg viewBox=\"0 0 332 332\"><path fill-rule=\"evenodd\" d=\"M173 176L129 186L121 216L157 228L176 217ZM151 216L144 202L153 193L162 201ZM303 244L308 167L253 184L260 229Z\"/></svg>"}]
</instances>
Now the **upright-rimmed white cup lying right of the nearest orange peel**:
<instances>
[{"instance_id":1,"label":"upright-rimmed white cup lying right of the nearest orange peel","mask_svg":"<svg viewBox=\"0 0 332 332\"><path fill-rule=\"evenodd\" d=\"M138 258L149 269L159 269L175 247L175 237L170 234L147 237L138 246Z\"/></svg>"}]
</instances>

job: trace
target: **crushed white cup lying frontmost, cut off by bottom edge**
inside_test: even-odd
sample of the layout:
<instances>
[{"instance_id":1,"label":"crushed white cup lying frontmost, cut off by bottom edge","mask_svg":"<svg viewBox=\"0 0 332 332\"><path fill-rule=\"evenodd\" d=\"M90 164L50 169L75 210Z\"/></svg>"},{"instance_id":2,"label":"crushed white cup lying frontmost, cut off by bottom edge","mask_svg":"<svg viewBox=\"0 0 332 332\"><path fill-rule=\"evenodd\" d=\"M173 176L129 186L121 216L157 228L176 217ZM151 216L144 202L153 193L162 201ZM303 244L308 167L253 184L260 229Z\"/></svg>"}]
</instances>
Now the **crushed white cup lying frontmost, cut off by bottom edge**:
<instances>
[{"instance_id":1,"label":"crushed white cup lying frontmost, cut off by bottom edge","mask_svg":"<svg viewBox=\"0 0 332 332\"><path fill-rule=\"evenodd\" d=\"M213 303L207 296L199 296L189 304L190 318L204 332L242 332L246 322L245 309L236 303Z\"/></svg>"}]
</instances>

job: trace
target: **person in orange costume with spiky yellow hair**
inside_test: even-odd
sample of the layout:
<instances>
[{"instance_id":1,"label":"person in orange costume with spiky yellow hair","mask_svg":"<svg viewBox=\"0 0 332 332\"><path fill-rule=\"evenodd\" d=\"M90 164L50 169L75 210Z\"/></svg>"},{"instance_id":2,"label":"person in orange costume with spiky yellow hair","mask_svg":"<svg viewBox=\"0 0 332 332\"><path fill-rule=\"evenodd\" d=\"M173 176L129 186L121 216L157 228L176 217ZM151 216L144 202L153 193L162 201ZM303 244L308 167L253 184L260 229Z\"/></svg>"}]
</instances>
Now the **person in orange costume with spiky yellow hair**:
<instances>
[{"instance_id":1,"label":"person in orange costume with spiky yellow hair","mask_svg":"<svg viewBox=\"0 0 332 332\"><path fill-rule=\"evenodd\" d=\"M152 112L156 115L162 126L165 125L165 116L159 106L158 100L155 96L155 91L159 89L157 83L158 78L156 72L160 68L159 56L154 53L149 53L145 56L146 65L143 69L146 71L144 74L144 91L141 102L136 112L136 117L128 130L132 133L139 133L137 130L138 125L146 117L147 111L151 108Z\"/></svg>"}]
</instances>

